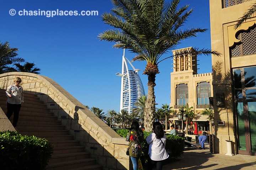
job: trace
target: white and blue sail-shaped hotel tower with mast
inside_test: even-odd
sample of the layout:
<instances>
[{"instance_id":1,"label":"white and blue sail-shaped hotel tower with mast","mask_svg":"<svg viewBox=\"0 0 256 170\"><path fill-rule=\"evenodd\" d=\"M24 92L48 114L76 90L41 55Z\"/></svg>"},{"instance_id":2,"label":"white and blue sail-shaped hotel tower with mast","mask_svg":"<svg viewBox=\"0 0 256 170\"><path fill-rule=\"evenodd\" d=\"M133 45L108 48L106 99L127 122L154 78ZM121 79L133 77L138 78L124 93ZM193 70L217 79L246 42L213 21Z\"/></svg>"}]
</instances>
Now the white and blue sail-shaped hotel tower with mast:
<instances>
[{"instance_id":1,"label":"white and blue sail-shaped hotel tower with mast","mask_svg":"<svg viewBox=\"0 0 256 170\"><path fill-rule=\"evenodd\" d=\"M128 68L128 64L133 68L133 70ZM122 57L122 73L116 73L116 75L122 77L121 81L121 99L120 99L120 112L122 109L132 113L132 109L136 108L134 103L140 96L145 95L144 87L142 81L139 77L138 72L140 69L135 69L132 63L124 57Z\"/></svg>"}]
</instances>

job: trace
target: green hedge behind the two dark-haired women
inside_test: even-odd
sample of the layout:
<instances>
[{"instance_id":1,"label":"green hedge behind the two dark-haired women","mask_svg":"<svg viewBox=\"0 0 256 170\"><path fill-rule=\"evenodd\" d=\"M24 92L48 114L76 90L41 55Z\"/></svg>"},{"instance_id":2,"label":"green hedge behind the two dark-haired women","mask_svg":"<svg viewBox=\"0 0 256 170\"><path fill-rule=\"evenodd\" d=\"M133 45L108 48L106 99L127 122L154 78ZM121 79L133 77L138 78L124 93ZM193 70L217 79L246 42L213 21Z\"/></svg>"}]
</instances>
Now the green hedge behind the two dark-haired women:
<instances>
[{"instance_id":1,"label":"green hedge behind the two dark-haired women","mask_svg":"<svg viewBox=\"0 0 256 170\"><path fill-rule=\"evenodd\" d=\"M128 129L118 129L116 132L122 136L126 137L128 134ZM142 163L146 163L148 159L148 150L149 145L146 143L146 138L151 134L151 132L143 131L144 133L144 141L142 143L142 156L140 157L140 160ZM166 145L165 149L169 153L169 158L178 158L183 154L184 152L184 138L180 136L174 136L170 134L166 134Z\"/></svg>"}]
</instances>

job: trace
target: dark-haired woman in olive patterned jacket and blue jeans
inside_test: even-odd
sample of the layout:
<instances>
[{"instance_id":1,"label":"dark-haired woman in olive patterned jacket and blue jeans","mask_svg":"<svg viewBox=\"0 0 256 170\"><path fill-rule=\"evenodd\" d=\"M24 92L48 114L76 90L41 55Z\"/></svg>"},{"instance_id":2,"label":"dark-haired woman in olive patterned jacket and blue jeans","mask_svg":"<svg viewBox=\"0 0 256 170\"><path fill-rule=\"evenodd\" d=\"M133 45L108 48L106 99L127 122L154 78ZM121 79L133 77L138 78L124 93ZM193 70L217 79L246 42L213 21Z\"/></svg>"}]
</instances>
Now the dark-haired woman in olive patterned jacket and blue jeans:
<instances>
[{"instance_id":1,"label":"dark-haired woman in olive patterned jacket and blue jeans","mask_svg":"<svg viewBox=\"0 0 256 170\"><path fill-rule=\"evenodd\" d=\"M133 121L126 141L129 141L129 156L133 163L133 170L138 170L138 160L142 154L143 131L139 128L139 123Z\"/></svg>"}]
</instances>

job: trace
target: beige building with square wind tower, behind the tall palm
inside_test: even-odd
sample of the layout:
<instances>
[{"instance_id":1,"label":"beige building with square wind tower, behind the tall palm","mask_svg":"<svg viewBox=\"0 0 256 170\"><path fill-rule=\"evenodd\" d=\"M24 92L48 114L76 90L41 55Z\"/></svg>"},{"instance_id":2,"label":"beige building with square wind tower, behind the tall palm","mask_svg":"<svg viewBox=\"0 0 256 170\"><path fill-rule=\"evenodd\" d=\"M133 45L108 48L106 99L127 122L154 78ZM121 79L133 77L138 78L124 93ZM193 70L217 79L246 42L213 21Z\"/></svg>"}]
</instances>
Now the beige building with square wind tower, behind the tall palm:
<instances>
[{"instance_id":1,"label":"beige building with square wind tower, behind the tall palm","mask_svg":"<svg viewBox=\"0 0 256 170\"><path fill-rule=\"evenodd\" d=\"M186 48L192 49L192 47ZM171 103L174 114L171 115L169 121L175 124L178 131L182 131L182 124L185 127L185 122L178 120L177 114L182 106L193 107L195 117L189 120L191 129L196 128L198 131L210 131L209 118L202 115L201 112L209 108L209 97L213 96L212 73L197 74L197 56L182 55L175 56L179 51L186 49L174 50L174 69L171 73Z\"/></svg>"}]
</instances>

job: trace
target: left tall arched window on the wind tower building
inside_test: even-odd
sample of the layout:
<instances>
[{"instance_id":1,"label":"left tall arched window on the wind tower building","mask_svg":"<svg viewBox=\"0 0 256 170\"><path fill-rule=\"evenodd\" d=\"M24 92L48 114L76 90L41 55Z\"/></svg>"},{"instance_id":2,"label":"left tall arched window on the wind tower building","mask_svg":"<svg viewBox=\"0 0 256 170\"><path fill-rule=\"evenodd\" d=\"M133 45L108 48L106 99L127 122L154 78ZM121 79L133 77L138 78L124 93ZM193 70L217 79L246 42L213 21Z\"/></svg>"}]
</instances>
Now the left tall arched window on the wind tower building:
<instances>
[{"instance_id":1,"label":"left tall arched window on the wind tower building","mask_svg":"<svg viewBox=\"0 0 256 170\"><path fill-rule=\"evenodd\" d=\"M176 105L186 105L188 103L188 85L178 84L176 86Z\"/></svg>"}]
</instances>

